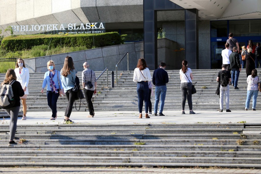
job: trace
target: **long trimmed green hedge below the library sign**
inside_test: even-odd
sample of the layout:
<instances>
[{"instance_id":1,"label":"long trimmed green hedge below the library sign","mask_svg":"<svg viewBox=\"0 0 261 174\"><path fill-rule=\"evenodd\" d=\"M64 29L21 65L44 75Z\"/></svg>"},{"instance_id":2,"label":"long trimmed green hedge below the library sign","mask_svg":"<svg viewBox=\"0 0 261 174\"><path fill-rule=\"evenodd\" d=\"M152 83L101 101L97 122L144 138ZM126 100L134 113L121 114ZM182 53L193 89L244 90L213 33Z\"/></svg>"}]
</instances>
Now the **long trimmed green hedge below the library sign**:
<instances>
[{"instance_id":1,"label":"long trimmed green hedge below the library sign","mask_svg":"<svg viewBox=\"0 0 261 174\"><path fill-rule=\"evenodd\" d=\"M94 46L93 46L94 38ZM119 45L123 43L121 36L117 32L100 34L76 34L76 35L17 35L8 36L2 40L1 47L8 51L19 51L31 49L36 45L49 45L50 48L56 46L86 46L88 49L93 47L103 47Z\"/></svg>"}]
</instances>

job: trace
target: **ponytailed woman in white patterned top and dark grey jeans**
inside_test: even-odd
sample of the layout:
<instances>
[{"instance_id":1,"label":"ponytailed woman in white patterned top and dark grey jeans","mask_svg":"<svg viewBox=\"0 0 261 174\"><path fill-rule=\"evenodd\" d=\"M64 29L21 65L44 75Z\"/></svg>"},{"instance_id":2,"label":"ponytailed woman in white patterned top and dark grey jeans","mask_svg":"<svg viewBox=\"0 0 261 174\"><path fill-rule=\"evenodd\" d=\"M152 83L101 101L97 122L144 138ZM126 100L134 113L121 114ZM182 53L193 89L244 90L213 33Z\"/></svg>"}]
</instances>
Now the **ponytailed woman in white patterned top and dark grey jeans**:
<instances>
[{"instance_id":1,"label":"ponytailed woman in white patterned top and dark grey jeans","mask_svg":"<svg viewBox=\"0 0 261 174\"><path fill-rule=\"evenodd\" d=\"M182 68L180 69L180 90L182 95L181 100L181 114L185 114L186 100L189 106L189 114L195 114L192 108L192 80L193 75L190 68L187 67L187 61L182 61Z\"/></svg>"}]
</instances>

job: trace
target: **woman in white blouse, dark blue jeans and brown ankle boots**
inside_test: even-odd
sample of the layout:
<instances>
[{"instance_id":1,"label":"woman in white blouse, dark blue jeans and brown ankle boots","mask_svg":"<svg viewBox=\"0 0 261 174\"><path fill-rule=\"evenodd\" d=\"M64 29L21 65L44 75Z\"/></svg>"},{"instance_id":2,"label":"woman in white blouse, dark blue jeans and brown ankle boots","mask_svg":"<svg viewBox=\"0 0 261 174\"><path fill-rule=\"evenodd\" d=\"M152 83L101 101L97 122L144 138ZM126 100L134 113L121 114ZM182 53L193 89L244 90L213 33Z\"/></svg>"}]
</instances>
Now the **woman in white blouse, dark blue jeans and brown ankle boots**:
<instances>
[{"instance_id":1,"label":"woman in white blouse, dark blue jeans and brown ankle boots","mask_svg":"<svg viewBox=\"0 0 261 174\"><path fill-rule=\"evenodd\" d=\"M142 118L143 100L145 102L145 118L150 118L148 115L148 110L149 110L148 81L151 81L151 76L150 76L149 68L147 68L146 61L143 58L140 58L138 60L137 68L134 69L133 81L137 82L139 118Z\"/></svg>"}]
</instances>

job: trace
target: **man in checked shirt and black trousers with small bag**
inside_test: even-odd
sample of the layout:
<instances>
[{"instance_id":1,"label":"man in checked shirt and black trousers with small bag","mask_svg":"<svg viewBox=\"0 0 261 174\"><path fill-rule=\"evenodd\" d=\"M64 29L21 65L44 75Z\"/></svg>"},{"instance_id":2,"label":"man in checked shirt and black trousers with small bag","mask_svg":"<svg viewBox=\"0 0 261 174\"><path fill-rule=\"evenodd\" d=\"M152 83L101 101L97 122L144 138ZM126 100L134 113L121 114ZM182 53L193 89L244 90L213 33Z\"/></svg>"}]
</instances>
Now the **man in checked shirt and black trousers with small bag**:
<instances>
[{"instance_id":1,"label":"man in checked shirt and black trousers with small bag","mask_svg":"<svg viewBox=\"0 0 261 174\"><path fill-rule=\"evenodd\" d=\"M96 80L95 72L89 68L88 62L84 62L82 67L84 68L84 70L81 73L83 92L85 94L85 99L90 113L90 115L87 117L94 117L92 97L93 94L96 94L97 80ZM91 82L92 84L94 84L93 87L89 88L87 82Z\"/></svg>"}]
</instances>

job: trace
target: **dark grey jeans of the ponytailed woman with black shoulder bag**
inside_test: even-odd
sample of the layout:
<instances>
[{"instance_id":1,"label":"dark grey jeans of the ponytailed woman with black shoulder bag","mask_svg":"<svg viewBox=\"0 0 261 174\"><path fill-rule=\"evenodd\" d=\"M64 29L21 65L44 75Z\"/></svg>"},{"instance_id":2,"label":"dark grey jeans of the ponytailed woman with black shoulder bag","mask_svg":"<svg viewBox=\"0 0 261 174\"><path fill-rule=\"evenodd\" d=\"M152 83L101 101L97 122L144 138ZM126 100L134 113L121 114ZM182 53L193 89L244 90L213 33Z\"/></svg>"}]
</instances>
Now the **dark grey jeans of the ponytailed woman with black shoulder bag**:
<instances>
[{"instance_id":1,"label":"dark grey jeans of the ponytailed woman with black shoulder bag","mask_svg":"<svg viewBox=\"0 0 261 174\"><path fill-rule=\"evenodd\" d=\"M187 100L187 104L189 110L192 110L192 84L191 83L180 83L180 90L181 90L181 109L185 110L185 104Z\"/></svg>"}]
</instances>

